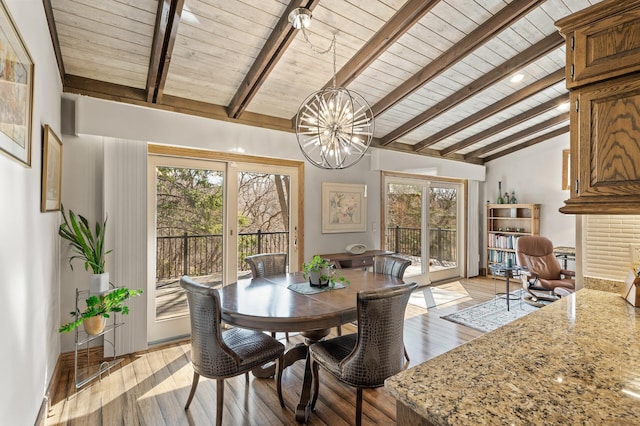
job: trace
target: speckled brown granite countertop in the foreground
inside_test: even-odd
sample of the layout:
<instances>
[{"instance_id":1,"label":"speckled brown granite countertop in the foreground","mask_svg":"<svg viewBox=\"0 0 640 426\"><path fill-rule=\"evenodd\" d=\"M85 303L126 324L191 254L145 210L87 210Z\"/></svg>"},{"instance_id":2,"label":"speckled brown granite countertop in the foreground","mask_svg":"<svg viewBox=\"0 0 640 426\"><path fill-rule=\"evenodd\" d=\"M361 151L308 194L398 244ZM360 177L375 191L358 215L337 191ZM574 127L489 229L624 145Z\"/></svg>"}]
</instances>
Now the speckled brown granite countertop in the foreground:
<instances>
[{"instance_id":1,"label":"speckled brown granite countertop in the foreground","mask_svg":"<svg viewBox=\"0 0 640 426\"><path fill-rule=\"evenodd\" d=\"M583 289L385 388L437 425L640 424L640 308Z\"/></svg>"}]
</instances>

